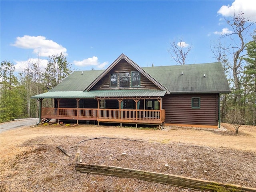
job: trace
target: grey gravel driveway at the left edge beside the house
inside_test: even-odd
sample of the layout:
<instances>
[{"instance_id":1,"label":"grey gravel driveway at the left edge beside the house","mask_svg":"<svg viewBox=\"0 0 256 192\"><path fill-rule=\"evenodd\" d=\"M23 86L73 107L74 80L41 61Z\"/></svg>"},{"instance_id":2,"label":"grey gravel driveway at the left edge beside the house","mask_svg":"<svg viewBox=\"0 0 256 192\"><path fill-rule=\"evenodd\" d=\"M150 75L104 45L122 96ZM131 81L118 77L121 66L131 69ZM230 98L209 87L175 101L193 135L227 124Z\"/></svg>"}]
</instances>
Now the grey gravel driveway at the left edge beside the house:
<instances>
[{"instance_id":1,"label":"grey gravel driveway at the left edge beside the house","mask_svg":"<svg viewBox=\"0 0 256 192\"><path fill-rule=\"evenodd\" d=\"M39 118L30 119L15 119L10 122L5 122L0 124L0 132L4 132L10 129L15 129L24 126L32 126L39 122Z\"/></svg>"}]
</instances>

